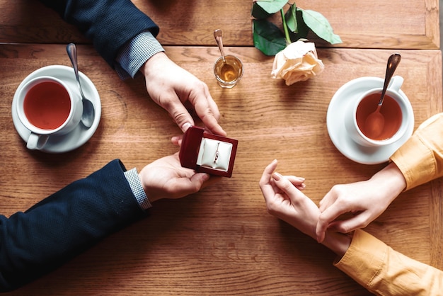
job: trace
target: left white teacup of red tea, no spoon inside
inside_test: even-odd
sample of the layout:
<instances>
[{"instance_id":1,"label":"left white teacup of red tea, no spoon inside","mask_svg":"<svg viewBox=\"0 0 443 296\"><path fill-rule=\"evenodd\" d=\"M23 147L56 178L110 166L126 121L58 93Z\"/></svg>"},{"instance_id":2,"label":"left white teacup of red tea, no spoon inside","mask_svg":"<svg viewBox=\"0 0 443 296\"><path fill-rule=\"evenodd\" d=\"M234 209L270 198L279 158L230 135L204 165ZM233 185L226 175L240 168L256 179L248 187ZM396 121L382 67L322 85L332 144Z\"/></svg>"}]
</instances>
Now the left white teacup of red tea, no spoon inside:
<instances>
[{"instance_id":1,"label":"left white teacup of red tea, no spoon inside","mask_svg":"<svg viewBox=\"0 0 443 296\"><path fill-rule=\"evenodd\" d=\"M42 149L51 136L66 135L79 124L83 105L78 91L52 76L28 81L19 91L16 110L30 130L28 149Z\"/></svg>"}]
</instances>

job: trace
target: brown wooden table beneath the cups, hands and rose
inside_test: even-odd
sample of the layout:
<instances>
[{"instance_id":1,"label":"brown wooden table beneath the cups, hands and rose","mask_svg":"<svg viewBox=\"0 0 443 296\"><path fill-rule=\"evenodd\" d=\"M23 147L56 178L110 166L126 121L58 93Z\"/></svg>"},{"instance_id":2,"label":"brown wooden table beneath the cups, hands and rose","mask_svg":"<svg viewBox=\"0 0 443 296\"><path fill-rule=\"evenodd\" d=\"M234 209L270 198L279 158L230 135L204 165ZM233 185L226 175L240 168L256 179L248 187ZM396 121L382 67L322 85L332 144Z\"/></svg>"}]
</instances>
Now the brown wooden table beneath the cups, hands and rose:
<instances>
[{"instance_id":1,"label":"brown wooden table beneath the cups, hands and rose","mask_svg":"<svg viewBox=\"0 0 443 296\"><path fill-rule=\"evenodd\" d=\"M271 79L273 57L252 47L251 1L134 2L161 26L169 57L209 86L220 123L239 142L233 177L188 198L156 202L146 220L9 295L369 295L332 266L331 251L267 213L258 180L278 159L278 171L304 176L306 195L318 203L335 183L381 169L385 164L358 164L335 148L326 112L347 81L383 77L394 50L403 57L396 74L405 79L415 127L443 111L437 0L297 1L323 13L344 42L318 41L326 69L292 86ZM18 43L0 44L2 215L27 209L111 159L142 169L177 151L169 140L180 130L148 98L143 79L121 81L88 40L37 1L0 0L0 7L0 42ZM219 56L215 28L224 30L226 52L245 66L234 89L219 88L212 73ZM13 94L35 69L70 65L71 41L84 43L79 68L100 93L100 125L73 152L31 152L13 126ZM403 193L367 231L443 268L442 213L442 180L436 180Z\"/></svg>"}]
</instances>

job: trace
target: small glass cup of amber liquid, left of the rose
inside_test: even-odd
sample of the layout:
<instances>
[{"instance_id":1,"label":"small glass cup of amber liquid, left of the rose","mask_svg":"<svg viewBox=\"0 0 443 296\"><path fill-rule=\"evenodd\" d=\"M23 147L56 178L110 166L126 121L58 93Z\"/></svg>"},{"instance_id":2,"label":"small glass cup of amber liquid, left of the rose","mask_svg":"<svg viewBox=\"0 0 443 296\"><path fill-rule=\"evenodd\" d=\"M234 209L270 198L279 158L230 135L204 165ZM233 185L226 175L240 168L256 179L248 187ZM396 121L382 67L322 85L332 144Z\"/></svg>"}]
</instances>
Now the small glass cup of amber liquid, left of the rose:
<instances>
[{"instance_id":1,"label":"small glass cup of amber liquid, left of the rose","mask_svg":"<svg viewBox=\"0 0 443 296\"><path fill-rule=\"evenodd\" d=\"M214 64L214 75L224 89L232 89L241 76L243 76L243 64L238 57L234 55L225 55L226 64L223 62L223 57L219 57Z\"/></svg>"}]
</instances>

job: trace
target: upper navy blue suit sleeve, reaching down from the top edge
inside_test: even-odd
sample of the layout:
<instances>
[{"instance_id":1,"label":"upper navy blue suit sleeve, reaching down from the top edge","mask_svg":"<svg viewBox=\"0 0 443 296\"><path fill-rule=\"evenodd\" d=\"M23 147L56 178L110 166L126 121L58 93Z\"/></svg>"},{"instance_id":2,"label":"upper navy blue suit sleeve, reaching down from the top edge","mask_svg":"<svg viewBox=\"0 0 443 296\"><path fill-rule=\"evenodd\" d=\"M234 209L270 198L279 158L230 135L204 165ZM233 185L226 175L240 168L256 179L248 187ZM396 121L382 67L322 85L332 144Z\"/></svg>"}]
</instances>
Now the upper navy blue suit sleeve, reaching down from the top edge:
<instances>
[{"instance_id":1,"label":"upper navy blue suit sleeve, reaching down from the top edge","mask_svg":"<svg viewBox=\"0 0 443 296\"><path fill-rule=\"evenodd\" d=\"M156 36L159 27L130 0L40 0L57 11L64 21L75 25L93 41L98 53L111 67L122 45L149 30Z\"/></svg>"}]
</instances>

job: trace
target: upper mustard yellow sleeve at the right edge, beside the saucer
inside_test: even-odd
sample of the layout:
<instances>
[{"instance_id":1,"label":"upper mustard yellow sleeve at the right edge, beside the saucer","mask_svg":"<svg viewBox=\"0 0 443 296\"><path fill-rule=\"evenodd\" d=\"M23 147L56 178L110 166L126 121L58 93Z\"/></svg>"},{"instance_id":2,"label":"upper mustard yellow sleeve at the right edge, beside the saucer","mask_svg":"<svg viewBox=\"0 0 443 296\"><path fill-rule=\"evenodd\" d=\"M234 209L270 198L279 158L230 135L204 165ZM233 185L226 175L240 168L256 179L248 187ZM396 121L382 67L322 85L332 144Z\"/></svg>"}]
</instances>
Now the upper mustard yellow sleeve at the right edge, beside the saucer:
<instances>
[{"instance_id":1,"label":"upper mustard yellow sleeve at the right edge, beside the saucer","mask_svg":"<svg viewBox=\"0 0 443 296\"><path fill-rule=\"evenodd\" d=\"M392 156L406 180L406 190L443 176L443 113L422 123Z\"/></svg>"}]
</instances>

